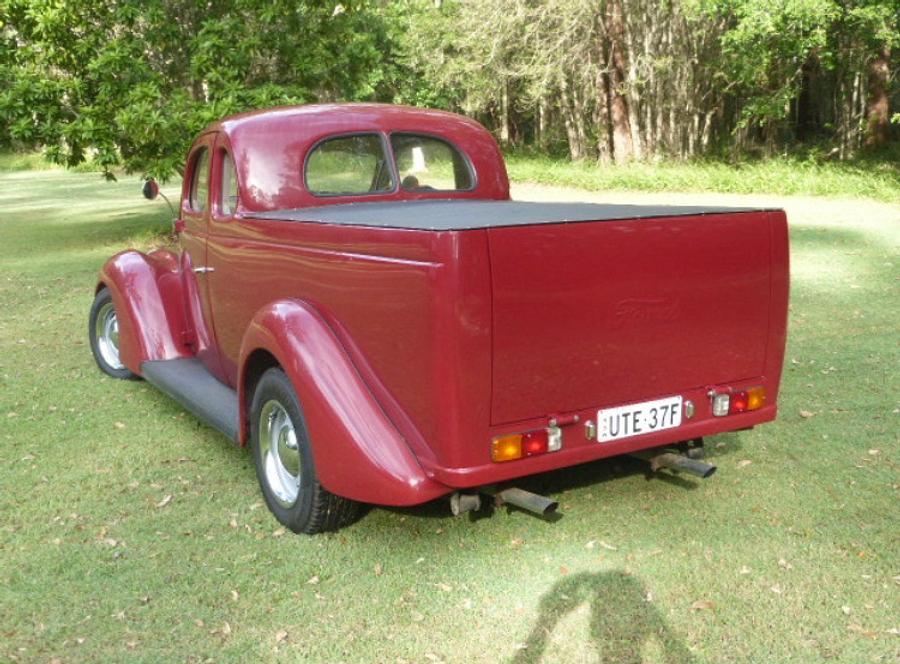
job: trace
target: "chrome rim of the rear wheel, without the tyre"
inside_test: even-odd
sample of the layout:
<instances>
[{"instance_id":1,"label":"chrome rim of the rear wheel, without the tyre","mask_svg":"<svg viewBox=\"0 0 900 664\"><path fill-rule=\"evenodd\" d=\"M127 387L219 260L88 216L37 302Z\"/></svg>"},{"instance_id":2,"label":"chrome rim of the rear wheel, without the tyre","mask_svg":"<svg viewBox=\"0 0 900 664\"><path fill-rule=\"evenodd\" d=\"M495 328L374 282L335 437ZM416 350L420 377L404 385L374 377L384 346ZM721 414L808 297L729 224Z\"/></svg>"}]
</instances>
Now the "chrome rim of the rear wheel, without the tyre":
<instances>
[{"instance_id":1,"label":"chrome rim of the rear wheel, without the tyre","mask_svg":"<svg viewBox=\"0 0 900 664\"><path fill-rule=\"evenodd\" d=\"M275 399L267 401L259 415L259 459L276 502L291 507L300 493L300 449L294 423Z\"/></svg>"}]
</instances>

